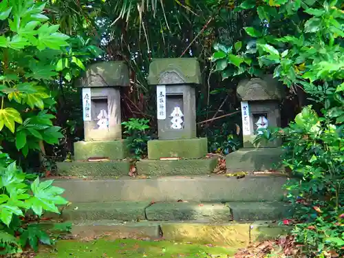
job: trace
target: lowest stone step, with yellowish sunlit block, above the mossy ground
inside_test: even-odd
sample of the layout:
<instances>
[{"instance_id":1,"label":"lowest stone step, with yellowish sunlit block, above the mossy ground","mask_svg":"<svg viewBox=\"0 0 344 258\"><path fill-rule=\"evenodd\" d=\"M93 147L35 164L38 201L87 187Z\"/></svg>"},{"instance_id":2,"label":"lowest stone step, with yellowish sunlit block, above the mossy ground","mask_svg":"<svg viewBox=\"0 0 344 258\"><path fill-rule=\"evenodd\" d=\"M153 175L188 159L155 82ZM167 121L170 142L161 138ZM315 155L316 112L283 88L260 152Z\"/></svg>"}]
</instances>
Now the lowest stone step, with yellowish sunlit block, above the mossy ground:
<instances>
[{"instance_id":1,"label":"lowest stone step, with yellowish sunlit block, above the mossy ground","mask_svg":"<svg viewBox=\"0 0 344 258\"><path fill-rule=\"evenodd\" d=\"M110 239L147 237L233 248L244 248L256 241L275 239L280 235L286 235L289 230L288 226L279 226L268 221L204 223L100 220L76 222L72 226L72 234L80 238L105 235Z\"/></svg>"}]
</instances>

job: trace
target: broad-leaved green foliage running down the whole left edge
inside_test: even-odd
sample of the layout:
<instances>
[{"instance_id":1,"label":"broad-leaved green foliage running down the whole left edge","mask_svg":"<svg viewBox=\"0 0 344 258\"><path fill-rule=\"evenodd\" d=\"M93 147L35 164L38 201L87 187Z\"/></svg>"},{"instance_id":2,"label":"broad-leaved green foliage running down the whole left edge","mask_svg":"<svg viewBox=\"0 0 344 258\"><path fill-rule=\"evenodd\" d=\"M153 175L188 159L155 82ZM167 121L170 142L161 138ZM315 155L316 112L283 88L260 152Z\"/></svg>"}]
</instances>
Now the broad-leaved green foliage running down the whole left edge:
<instances>
[{"instance_id":1,"label":"broad-leaved green foliage running down the whole left edge","mask_svg":"<svg viewBox=\"0 0 344 258\"><path fill-rule=\"evenodd\" d=\"M49 23L44 9L45 3L33 0L0 3L0 140L14 143L24 156L30 150L41 151L40 142L58 144L63 137L61 128L52 122L55 116L50 111L56 101L50 86L60 76L66 77L58 63L71 47L69 36ZM81 60L89 53L68 53L78 67L71 69L85 68ZM40 182L36 175L24 173L9 155L0 153L2 254L20 252L27 245L36 250L39 242L52 244L39 226L25 221L29 211L41 217L44 212L59 213L57 206L67 204L61 197L63 189L52 182Z\"/></svg>"}]
</instances>

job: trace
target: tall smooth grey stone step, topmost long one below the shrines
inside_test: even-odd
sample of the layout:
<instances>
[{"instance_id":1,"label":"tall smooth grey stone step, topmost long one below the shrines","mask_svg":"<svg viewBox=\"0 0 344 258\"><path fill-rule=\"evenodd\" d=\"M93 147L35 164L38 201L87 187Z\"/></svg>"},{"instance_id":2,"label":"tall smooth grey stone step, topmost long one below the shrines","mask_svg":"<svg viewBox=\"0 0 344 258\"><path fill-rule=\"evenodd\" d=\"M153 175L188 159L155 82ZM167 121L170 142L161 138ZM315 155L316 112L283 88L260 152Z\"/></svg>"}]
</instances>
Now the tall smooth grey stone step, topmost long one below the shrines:
<instances>
[{"instance_id":1,"label":"tall smooth grey stone step, topmost long one below the shrines","mask_svg":"<svg viewBox=\"0 0 344 258\"><path fill-rule=\"evenodd\" d=\"M284 175L57 179L69 202L273 202L283 198Z\"/></svg>"}]
</instances>

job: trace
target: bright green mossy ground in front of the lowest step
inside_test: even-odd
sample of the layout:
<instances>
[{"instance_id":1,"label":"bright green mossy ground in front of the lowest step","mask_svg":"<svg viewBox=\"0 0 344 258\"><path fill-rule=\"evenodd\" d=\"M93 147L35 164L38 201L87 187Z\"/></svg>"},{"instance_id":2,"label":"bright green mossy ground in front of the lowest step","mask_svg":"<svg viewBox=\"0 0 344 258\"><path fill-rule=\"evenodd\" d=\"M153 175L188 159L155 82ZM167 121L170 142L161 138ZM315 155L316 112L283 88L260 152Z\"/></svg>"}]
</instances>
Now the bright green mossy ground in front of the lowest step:
<instances>
[{"instance_id":1,"label":"bright green mossy ground in front of the lowest step","mask_svg":"<svg viewBox=\"0 0 344 258\"><path fill-rule=\"evenodd\" d=\"M57 251L42 250L36 258L65 257L210 257L224 258L233 255L235 250L223 247L210 247L196 244L180 244L171 241L140 241L135 239L99 239L89 242L58 241Z\"/></svg>"}]
</instances>

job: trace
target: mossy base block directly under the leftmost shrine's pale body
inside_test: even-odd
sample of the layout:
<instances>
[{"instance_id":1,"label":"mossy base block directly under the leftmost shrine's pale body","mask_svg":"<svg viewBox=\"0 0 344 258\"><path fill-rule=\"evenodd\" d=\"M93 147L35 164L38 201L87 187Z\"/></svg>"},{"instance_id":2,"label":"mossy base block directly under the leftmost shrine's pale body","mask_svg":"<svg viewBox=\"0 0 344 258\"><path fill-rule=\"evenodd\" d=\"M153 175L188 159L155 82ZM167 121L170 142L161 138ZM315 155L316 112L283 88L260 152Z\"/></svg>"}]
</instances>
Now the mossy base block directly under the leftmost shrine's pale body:
<instances>
[{"instance_id":1,"label":"mossy base block directly under the leftmost shrine's pale body","mask_svg":"<svg viewBox=\"0 0 344 258\"><path fill-rule=\"evenodd\" d=\"M88 158L122 160L129 155L127 145L126 140L74 142L74 160L87 160Z\"/></svg>"}]
</instances>

